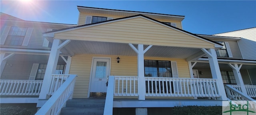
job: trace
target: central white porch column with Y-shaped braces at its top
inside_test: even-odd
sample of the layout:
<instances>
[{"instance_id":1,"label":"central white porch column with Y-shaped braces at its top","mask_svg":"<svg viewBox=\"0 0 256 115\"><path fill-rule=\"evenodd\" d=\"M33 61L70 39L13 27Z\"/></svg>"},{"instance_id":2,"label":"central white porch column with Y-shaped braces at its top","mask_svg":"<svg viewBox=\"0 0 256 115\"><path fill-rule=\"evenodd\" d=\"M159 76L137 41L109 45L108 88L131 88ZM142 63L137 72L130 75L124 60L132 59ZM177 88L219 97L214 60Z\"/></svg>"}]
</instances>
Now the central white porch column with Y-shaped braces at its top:
<instances>
[{"instance_id":1,"label":"central white porch column with Y-shaped braces at its top","mask_svg":"<svg viewBox=\"0 0 256 115\"><path fill-rule=\"evenodd\" d=\"M132 44L129 44L129 46L137 53L138 58L138 99L145 100L146 81L144 75L144 54L152 47L152 45L148 46L148 48L145 50L143 44L138 44L138 49L135 48Z\"/></svg>"}]
</instances>

